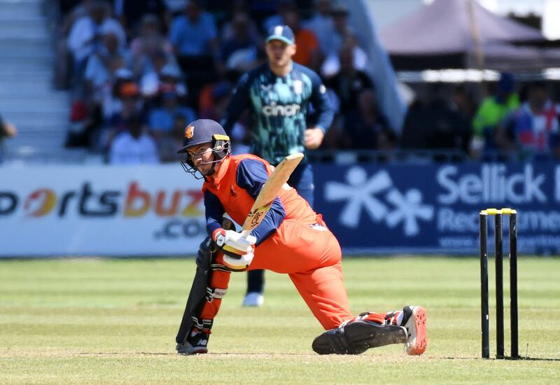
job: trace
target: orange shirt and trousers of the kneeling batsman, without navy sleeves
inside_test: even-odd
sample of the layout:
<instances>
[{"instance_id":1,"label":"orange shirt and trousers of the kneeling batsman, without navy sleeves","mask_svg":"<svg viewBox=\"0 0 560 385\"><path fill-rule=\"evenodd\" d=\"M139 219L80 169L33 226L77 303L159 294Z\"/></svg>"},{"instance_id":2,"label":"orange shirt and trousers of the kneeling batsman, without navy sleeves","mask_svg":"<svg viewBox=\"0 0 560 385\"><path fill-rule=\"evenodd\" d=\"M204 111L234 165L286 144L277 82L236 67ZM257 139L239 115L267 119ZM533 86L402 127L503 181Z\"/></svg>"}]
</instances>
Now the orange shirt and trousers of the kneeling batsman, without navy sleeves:
<instances>
[{"instance_id":1,"label":"orange shirt and trousers of the kneeling batsman, without navy sleeves","mask_svg":"<svg viewBox=\"0 0 560 385\"><path fill-rule=\"evenodd\" d=\"M237 185L237 167L242 160L262 162L268 175L272 167L254 155L228 156L213 179L204 182L208 190L218 197L232 219L242 224L255 200L244 188ZM352 318L348 297L342 278L342 253L338 241L326 228L320 215L293 188L281 190L278 195L286 213L282 223L270 237L255 248L255 258L248 269L268 269L289 274L297 291L311 309L323 328L337 328ZM219 258L218 258L219 261ZM227 287L229 273L223 281L213 284ZM218 286L221 285L221 286ZM219 302L207 305L204 316L214 318Z\"/></svg>"}]
</instances>

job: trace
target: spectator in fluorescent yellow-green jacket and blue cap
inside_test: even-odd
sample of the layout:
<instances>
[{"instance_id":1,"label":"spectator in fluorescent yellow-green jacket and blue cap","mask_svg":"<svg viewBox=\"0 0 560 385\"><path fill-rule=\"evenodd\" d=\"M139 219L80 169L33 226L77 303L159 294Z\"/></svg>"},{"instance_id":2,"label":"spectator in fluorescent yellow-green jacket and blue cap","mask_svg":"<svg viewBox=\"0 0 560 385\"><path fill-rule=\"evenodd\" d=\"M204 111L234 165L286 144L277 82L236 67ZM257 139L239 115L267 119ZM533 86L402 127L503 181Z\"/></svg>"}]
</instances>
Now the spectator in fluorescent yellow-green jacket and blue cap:
<instances>
[{"instance_id":1,"label":"spectator in fluorescent yellow-green jacket and blue cap","mask_svg":"<svg viewBox=\"0 0 560 385\"><path fill-rule=\"evenodd\" d=\"M515 80L511 73L501 73L496 92L482 101L472 120L470 153L478 158L482 151L496 150L496 127L508 113L519 107Z\"/></svg>"}]
</instances>

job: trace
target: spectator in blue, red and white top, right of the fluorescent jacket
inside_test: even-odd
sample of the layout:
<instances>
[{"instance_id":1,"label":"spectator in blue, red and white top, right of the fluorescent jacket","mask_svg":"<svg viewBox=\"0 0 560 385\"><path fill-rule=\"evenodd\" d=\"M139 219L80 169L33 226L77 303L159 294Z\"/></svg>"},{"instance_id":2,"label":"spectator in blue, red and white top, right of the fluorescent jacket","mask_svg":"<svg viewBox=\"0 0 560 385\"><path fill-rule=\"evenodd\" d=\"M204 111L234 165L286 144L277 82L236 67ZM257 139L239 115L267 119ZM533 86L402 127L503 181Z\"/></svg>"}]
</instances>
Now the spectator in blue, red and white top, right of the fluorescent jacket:
<instances>
[{"instance_id":1,"label":"spectator in blue, red and white top, right of the fluorescent jacket","mask_svg":"<svg viewBox=\"0 0 560 385\"><path fill-rule=\"evenodd\" d=\"M532 83L527 101L498 125L498 146L519 150L521 158L560 158L559 113L560 106L549 99L546 84Z\"/></svg>"}]
</instances>

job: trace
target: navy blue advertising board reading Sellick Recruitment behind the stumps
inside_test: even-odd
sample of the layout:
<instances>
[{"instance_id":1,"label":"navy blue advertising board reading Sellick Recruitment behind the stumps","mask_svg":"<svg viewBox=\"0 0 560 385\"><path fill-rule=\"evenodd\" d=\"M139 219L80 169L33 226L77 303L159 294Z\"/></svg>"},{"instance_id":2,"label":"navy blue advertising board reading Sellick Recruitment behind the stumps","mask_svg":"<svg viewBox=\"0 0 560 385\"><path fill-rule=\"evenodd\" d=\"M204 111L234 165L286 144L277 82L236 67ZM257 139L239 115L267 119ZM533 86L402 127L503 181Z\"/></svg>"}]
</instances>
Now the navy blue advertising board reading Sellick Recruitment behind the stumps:
<instances>
[{"instance_id":1,"label":"navy blue advertising board reading Sellick Recruitment behind the stumps","mask_svg":"<svg viewBox=\"0 0 560 385\"><path fill-rule=\"evenodd\" d=\"M560 254L560 165L552 162L314 170L316 207L346 253L477 253L479 211L512 207L520 253Z\"/></svg>"}]
</instances>

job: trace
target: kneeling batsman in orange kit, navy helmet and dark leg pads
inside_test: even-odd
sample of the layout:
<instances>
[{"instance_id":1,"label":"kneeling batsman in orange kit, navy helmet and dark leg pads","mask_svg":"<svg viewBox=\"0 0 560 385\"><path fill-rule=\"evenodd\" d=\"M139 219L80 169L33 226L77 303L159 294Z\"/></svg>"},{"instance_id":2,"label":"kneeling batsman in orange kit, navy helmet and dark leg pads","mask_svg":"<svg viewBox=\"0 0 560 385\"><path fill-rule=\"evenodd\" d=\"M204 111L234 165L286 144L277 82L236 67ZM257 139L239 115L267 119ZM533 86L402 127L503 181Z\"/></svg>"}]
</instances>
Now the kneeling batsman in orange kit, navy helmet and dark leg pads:
<instances>
[{"instance_id":1,"label":"kneeling batsman in orange kit, navy helmet and dark leg pads","mask_svg":"<svg viewBox=\"0 0 560 385\"><path fill-rule=\"evenodd\" d=\"M244 223L272 174L255 155L230 155L230 138L214 120L200 119L185 130L179 153L186 172L204 179L209 237L200 245L197 272L176 337L178 353L207 353L214 318L228 292L231 272L269 269L288 274L325 329L313 341L319 354L359 354L386 344L405 344L410 355L426 350L426 310L405 306L387 314L353 316L342 277L339 243L306 200L284 185L262 223L242 237L223 222L228 214ZM200 176L199 176L200 174Z\"/></svg>"}]
</instances>

